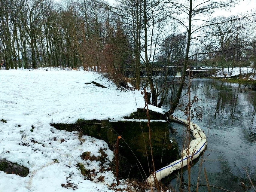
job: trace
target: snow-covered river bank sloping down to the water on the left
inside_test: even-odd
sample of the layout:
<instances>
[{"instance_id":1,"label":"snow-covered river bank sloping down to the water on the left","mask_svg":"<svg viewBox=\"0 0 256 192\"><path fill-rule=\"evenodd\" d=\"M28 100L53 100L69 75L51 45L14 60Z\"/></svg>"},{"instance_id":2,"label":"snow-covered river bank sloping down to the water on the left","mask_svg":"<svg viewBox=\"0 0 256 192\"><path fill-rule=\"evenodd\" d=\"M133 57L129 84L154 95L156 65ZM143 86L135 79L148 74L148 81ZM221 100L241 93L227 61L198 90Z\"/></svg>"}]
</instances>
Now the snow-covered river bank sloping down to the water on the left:
<instances>
[{"instance_id":1,"label":"snow-covered river bank sloping down to the water on the left","mask_svg":"<svg viewBox=\"0 0 256 192\"><path fill-rule=\"evenodd\" d=\"M92 81L107 88L86 84ZM121 120L137 106L145 106L141 91L117 90L95 72L0 70L0 119L7 121L0 122L0 159L29 168L24 178L0 171L0 192L73 191L65 188L67 182L78 188L75 191L114 191L115 176L108 170L109 163L81 158L83 152L97 157L102 150L112 160L108 145L90 136L79 138L77 132L56 130L50 123L75 123L78 118ZM77 163L91 171L92 181L84 179ZM117 188L125 187L122 181Z\"/></svg>"}]
</instances>

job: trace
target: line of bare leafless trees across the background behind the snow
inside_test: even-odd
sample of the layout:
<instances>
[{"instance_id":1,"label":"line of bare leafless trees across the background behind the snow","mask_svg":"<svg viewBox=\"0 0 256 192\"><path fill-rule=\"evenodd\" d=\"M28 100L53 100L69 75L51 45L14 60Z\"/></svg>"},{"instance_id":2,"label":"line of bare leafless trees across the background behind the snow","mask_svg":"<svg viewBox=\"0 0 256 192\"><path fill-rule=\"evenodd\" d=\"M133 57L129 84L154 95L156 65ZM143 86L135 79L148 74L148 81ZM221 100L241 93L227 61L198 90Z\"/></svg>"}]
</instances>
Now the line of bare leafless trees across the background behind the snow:
<instances>
[{"instance_id":1,"label":"line of bare leafless trees across the background behind the snow","mask_svg":"<svg viewBox=\"0 0 256 192\"><path fill-rule=\"evenodd\" d=\"M0 61L7 69L63 66L108 72L120 84L125 66L134 68L141 87L145 67L151 104L161 107L170 88L172 114L184 86L186 69L194 60L212 68L233 69L248 62L256 69L253 11L212 17L231 10L236 0L171 1L2 0L0 2ZM166 66L154 77L154 66ZM182 67L180 82L167 81L168 66ZM231 70L232 73L232 70ZM164 81L163 81L164 80ZM161 87L158 86L159 82Z\"/></svg>"}]
</instances>

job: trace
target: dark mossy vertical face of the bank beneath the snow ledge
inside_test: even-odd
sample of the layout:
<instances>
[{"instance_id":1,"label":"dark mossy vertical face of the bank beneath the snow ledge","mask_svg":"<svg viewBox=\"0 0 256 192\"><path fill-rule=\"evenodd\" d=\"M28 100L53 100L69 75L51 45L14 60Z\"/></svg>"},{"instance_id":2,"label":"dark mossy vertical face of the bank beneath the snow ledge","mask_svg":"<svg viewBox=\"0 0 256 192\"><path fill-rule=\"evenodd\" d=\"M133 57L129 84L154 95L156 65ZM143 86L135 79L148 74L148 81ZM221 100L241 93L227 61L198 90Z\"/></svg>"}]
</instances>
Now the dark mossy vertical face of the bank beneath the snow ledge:
<instances>
[{"instance_id":1,"label":"dark mossy vertical face of the bank beneath the snow ledge","mask_svg":"<svg viewBox=\"0 0 256 192\"><path fill-rule=\"evenodd\" d=\"M137 165L141 164L144 170L148 170L148 162L151 166L151 150L149 145L149 128L147 121L117 121L109 120L83 120L79 119L75 124L51 124L57 129L66 131L80 131L84 135L102 139L108 143L111 150L121 136L119 146L120 158L126 159L127 170L123 169L123 175L130 172L133 165L134 172L138 171ZM168 123L153 121L150 123L151 143L156 169L166 166L178 157L178 148L169 140ZM139 162L138 162L138 160ZM121 174L121 173L120 173ZM131 175L132 173L130 173ZM134 173L135 175L137 173ZM132 175L133 176L133 175Z\"/></svg>"}]
</instances>

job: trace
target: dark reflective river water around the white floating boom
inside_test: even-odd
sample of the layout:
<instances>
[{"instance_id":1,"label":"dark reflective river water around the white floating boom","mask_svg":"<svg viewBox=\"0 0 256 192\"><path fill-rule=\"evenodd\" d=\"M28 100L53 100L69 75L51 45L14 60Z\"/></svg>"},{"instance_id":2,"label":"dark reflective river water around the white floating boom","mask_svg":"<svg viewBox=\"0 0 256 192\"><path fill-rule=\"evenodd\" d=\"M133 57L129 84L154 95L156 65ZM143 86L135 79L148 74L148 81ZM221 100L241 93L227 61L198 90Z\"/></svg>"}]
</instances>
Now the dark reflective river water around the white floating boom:
<instances>
[{"instance_id":1,"label":"dark reflective river water around the white floating boom","mask_svg":"<svg viewBox=\"0 0 256 192\"><path fill-rule=\"evenodd\" d=\"M254 186L256 185L256 92L248 91L248 86L227 83L211 79L196 79L192 81L191 98L195 95L199 99L198 106L203 111L202 120L192 119L208 135L207 150L191 168L191 191L196 191L197 178L199 184L206 185L204 168L209 185L223 187L227 190L243 191L241 182L249 186L245 166ZM186 103L187 89L183 91L181 103ZM168 109L168 103L163 106ZM174 115L183 117L178 110ZM184 117L186 118L186 117ZM182 147L183 125L170 123L171 137ZM200 167L201 160L203 164ZM199 174L200 172L200 174ZM187 191L188 173L184 171L182 181L184 191ZM180 191L180 181L169 181L176 191ZM207 187L200 186L199 191L208 191ZM211 191L222 191L211 187ZM252 190L248 190L252 191Z\"/></svg>"}]
</instances>

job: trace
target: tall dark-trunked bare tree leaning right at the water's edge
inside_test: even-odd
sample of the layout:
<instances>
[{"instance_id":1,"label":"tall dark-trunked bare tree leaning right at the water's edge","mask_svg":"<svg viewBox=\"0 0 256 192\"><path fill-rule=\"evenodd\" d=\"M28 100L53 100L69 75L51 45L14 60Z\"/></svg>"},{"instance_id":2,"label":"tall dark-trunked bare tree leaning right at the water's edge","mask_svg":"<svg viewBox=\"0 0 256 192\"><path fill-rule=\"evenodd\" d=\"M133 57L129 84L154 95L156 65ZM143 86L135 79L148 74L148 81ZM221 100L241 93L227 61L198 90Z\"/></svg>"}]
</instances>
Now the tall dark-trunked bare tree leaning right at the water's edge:
<instances>
[{"instance_id":1,"label":"tall dark-trunked bare tree leaning right at the water's edge","mask_svg":"<svg viewBox=\"0 0 256 192\"><path fill-rule=\"evenodd\" d=\"M175 108L178 106L180 100L181 92L184 87L186 70L189 66L189 59L190 57L195 55L191 54L190 52L190 44L191 42L196 43L196 41L204 44L203 41L201 41L201 35L198 34L203 28L213 25L211 20L207 19L208 17L206 15L212 14L217 9L229 8L236 3L236 0L202 2L190 0L188 2L184 1L182 3L172 1L167 1L166 3L168 6L163 9L163 14L165 14L172 20L176 20L187 33L187 45L182 69L181 83L179 84L176 97L172 101L171 108L167 112L168 115L171 115L174 112ZM171 12L175 12L176 16L175 14L170 14L169 10L171 10ZM204 16L204 19L201 19L202 16ZM201 24L197 25L196 22L200 22Z\"/></svg>"}]
</instances>

